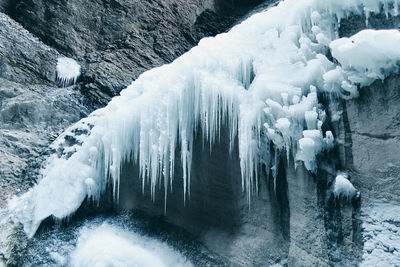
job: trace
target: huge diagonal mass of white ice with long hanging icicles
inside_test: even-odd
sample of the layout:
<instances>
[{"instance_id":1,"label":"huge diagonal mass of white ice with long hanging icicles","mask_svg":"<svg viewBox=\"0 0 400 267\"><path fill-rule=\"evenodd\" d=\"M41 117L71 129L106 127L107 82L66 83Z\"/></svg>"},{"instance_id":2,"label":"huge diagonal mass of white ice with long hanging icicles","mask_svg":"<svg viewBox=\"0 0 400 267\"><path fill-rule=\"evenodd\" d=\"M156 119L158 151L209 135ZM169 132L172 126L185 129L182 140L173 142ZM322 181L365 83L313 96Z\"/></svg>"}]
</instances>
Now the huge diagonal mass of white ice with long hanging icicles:
<instances>
[{"instance_id":1,"label":"huge diagonal mass of white ice with long hanging icicles","mask_svg":"<svg viewBox=\"0 0 400 267\"><path fill-rule=\"evenodd\" d=\"M276 179L279 153L315 172L316 155L334 145L333 134L322 130L326 114L318 94L331 101L353 97L358 86L398 70L392 45L399 32L363 31L337 40L341 18L371 12L397 15L398 1L286 0L201 40L62 134L53 144L62 153L48 158L35 187L10 201L12 216L32 235L44 218L68 216L88 195L98 200L108 180L118 200L123 162L137 164L153 197L163 184L167 198L176 156L186 201L194 135L212 145L221 127L229 129L231 149L238 142L249 201L261 163ZM335 61L325 56L329 50ZM64 146L67 138L75 145Z\"/></svg>"}]
</instances>

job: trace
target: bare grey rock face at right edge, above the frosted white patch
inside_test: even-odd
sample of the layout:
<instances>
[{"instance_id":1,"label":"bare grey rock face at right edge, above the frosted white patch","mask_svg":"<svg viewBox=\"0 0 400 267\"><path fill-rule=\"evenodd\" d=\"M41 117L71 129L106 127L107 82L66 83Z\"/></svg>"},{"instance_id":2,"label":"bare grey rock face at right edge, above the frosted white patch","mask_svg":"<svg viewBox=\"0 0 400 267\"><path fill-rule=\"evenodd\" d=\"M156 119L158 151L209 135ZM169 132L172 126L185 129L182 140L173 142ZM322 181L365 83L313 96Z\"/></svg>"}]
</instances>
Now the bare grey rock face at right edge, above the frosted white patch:
<instances>
[{"instance_id":1,"label":"bare grey rock face at right edge, above the frosted white patch","mask_svg":"<svg viewBox=\"0 0 400 267\"><path fill-rule=\"evenodd\" d=\"M400 201L400 76L360 90L344 103L342 159L364 201ZM346 125L346 126L345 126Z\"/></svg>"}]
</instances>

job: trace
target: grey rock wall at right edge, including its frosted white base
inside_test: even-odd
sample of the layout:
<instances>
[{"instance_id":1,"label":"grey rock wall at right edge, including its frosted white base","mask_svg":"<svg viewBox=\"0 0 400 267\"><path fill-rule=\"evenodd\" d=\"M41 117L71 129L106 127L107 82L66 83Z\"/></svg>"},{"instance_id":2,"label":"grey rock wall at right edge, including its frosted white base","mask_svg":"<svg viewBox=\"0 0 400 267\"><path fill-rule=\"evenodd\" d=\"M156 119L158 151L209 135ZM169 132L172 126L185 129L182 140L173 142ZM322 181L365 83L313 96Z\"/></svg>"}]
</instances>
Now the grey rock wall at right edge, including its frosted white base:
<instances>
[{"instance_id":1,"label":"grey rock wall at right edge, including its frosted white base","mask_svg":"<svg viewBox=\"0 0 400 267\"><path fill-rule=\"evenodd\" d=\"M361 192L357 216L364 229L359 238L366 265L391 265L400 258L399 100L400 76L392 75L362 88L359 98L342 103L339 155Z\"/></svg>"}]
</instances>

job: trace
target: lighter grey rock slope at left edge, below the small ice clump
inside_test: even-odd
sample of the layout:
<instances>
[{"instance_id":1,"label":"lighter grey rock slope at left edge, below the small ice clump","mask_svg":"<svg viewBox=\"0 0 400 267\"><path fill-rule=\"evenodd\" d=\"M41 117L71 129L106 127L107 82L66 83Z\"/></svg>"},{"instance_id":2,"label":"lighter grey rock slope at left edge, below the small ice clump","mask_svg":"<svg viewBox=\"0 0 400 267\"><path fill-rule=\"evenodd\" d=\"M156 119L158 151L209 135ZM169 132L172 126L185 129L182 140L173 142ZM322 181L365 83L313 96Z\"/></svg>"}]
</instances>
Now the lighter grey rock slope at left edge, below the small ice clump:
<instances>
[{"instance_id":1,"label":"lighter grey rock slope at left edge, below the small ice clump","mask_svg":"<svg viewBox=\"0 0 400 267\"><path fill-rule=\"evenodd\" d=\"M57 88L58 56L0 13L0 206L32 186L27 173L35 160L85 114L79 92Z\"/></svg>"}]
</instances>

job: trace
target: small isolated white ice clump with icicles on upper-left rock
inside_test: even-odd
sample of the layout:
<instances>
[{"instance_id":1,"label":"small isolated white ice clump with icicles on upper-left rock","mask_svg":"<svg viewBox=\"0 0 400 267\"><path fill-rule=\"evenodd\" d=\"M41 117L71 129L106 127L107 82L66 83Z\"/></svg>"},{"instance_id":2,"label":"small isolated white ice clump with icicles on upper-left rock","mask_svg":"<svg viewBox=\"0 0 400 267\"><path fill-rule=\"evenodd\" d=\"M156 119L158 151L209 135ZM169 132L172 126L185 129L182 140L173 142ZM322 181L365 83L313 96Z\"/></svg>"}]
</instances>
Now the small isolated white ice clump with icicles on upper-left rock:
<instances>
[{"instance_id":1,"label":"small isolated white ice clump with icicles on upper-left rock","mask_svg":"<svg viewBox=\"0 0 400 267\"><path fill-rule=\"evenodd\" d=\"M67 87L76 83L81 75L81 66L72 58L60 57L57 59L57 80L62 87Z\"/></svg>"}]
</instances>

